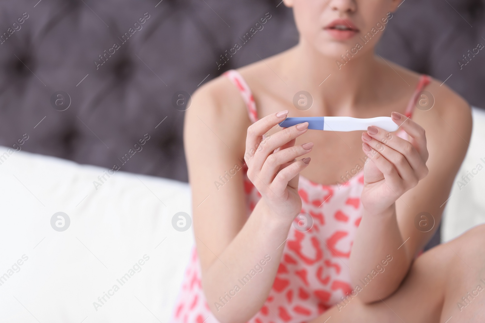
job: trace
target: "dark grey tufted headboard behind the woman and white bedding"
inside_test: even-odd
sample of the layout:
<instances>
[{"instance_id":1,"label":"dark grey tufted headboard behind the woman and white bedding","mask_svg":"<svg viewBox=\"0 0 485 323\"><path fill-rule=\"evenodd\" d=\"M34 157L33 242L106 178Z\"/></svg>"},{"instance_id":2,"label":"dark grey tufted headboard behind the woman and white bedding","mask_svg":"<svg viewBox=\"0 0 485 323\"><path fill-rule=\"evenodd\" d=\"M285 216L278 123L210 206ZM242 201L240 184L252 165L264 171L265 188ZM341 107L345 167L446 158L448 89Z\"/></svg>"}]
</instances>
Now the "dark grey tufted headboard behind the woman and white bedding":
<instances>
[{"instance_id":1,"label":"dark grey tufted headboard behind the woman and white bedding","mask_svg":"<svg viewBox=\"0 0 485 323\"><path fill-rule=\"evenodd\" d=\"M0 145L181 181L174 102L298 40L280 0L3 0L0 17ZM484 107L485 50L458 63L485 45L484 0L405 0L387 29L380 55Z\"/></svg>"}]
</instances>

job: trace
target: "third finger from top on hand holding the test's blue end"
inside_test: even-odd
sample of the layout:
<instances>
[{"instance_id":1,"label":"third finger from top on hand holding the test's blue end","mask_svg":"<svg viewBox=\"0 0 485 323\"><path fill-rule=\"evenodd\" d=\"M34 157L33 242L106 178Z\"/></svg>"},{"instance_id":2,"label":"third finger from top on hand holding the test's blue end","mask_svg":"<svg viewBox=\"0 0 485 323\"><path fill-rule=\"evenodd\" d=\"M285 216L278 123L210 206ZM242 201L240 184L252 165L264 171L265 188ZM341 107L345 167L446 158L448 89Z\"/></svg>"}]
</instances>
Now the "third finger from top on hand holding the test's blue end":
<instances>
[{"instance_id":1,"label":"third finger from top on hand holding the test's blue end","mask_svg":"<svg viewBox=\"0 0 485 323\"><path fill-rule=\"evenodd\" d=\"M285 163L294 161L295 158L307 154L313 148L313 143L309 142L304 145L292 146L270 154L261 168L259 178L265 183L271 183L276 177L276 173Z\"/></svg>"}]
</instances>

